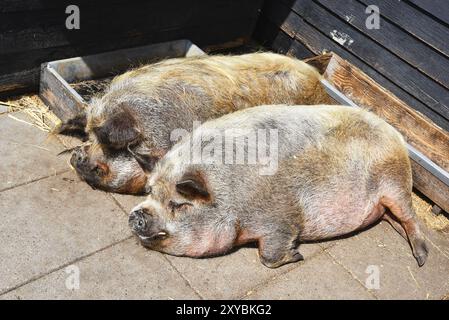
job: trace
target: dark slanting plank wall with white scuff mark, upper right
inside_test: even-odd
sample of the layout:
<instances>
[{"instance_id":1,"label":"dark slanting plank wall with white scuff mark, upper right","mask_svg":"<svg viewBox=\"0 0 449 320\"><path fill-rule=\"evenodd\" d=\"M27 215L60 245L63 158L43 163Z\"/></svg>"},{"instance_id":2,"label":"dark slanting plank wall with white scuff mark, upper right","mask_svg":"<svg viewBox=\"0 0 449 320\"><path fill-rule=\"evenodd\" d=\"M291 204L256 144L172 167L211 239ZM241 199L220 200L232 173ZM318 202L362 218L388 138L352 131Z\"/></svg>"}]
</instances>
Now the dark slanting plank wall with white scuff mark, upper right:
<instances>
[{"instance_id":1,"label":"dark slanting plank wall with white scuff mark, upper right","mask_svg":"<svg viewBox=\"0 0 449 320\"><path fill-rule=\"evenodd\" d=\"M365 27L370 4L378 30ZM449 130L448 10L446 0L267 0L255 36L300 58L334 51Z\"/></svg>"}]
</instances>

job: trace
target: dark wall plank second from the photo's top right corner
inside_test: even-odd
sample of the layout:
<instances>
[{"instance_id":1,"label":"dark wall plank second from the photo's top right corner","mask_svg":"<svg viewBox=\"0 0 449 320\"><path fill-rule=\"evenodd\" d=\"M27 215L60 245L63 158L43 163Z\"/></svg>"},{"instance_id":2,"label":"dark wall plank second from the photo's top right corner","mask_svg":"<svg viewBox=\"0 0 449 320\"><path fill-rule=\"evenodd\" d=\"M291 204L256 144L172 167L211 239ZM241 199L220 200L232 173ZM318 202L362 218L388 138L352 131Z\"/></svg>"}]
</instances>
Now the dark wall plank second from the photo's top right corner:
<instances>
[{"instance_id":1,"label":"dark wall plank second from the photo's top right corner","mask_svg":"<svg viewBox=\"0 0 449 320\"><path fill-rule=\"evenodd\" d=\"M381 16L449 57L449 28L398 0L359 0L366 6L379 7Z\"/></svg>"}]
</instances>

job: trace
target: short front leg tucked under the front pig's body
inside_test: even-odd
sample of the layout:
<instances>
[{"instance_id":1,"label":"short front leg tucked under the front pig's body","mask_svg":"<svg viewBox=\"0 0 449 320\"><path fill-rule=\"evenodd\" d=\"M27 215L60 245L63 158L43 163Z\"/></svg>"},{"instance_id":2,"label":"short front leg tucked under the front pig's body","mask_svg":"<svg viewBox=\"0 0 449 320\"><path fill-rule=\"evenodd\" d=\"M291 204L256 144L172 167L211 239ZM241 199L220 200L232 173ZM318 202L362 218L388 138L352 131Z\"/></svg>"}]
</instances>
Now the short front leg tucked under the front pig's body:
<instances>
[{"instance_id":1,"label":"short front leg tucked under the front pig's body","mask_svg":"<svg viewBox=\"0 0 449 320\"><path fill-rule=\"evenodd\" d=\"M304 260L299 253L297 236L286 233L265 235L259 239L260 261L269 268Z\"/></svg>"}]
</instances>

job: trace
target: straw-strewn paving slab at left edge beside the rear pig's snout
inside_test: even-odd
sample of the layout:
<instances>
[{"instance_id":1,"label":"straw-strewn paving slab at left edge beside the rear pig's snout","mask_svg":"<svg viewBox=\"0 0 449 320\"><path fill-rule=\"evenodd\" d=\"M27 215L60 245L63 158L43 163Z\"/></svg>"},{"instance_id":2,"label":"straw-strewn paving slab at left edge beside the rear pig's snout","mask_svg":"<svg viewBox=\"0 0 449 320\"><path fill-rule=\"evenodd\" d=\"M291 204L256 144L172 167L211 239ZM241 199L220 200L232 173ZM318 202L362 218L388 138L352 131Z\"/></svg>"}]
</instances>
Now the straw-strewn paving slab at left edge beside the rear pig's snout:
<instances>
[{"instance_id":1,"label":"straw-strewn paving slab at left edge beside the rear pig's snout","mask_svg":"<svg viewBox=\"0 0 449 320\"><path fill-rule=\"evenodd\" d=\"M21 113L10 114L26 119ZM30 124L0 116L0 190L68 170L67 156L56 156L62 146L56 138Z\"/></svg>"}]
</instances>

